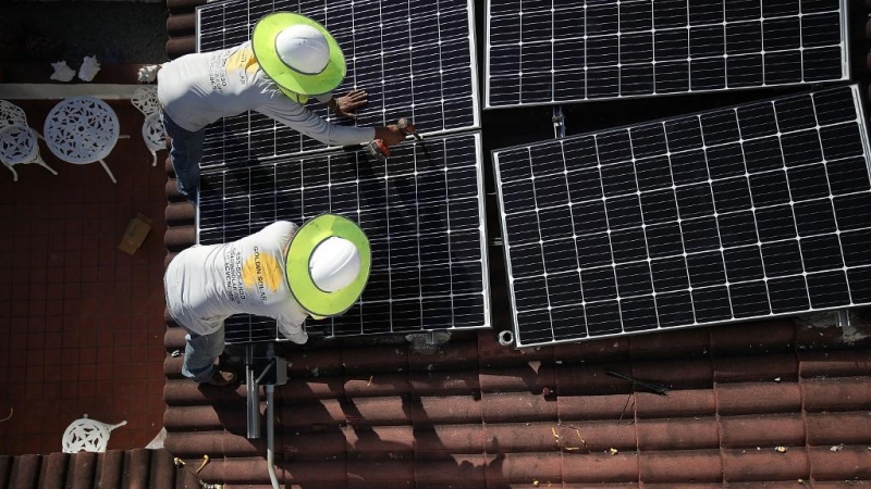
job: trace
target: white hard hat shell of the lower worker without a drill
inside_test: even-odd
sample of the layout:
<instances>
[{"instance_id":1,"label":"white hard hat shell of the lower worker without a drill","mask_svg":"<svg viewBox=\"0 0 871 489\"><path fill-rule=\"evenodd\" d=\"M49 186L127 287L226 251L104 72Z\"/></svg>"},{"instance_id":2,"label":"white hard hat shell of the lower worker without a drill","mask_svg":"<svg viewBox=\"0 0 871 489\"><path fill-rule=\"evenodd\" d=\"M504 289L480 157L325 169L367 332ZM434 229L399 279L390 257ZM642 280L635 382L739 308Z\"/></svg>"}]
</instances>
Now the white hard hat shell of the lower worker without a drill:
<instances>
[{"instance_id":1,"label":"white hard hat shell of the lower worker without a drill","mask_svg":"<svg viewBox=\"0 0 871 489\"><path fill-rule=\"evenodd\" d=\"M308 260L311 281L324 292L349 286L360 273L360 253L353 242L332 236L315 248Z\"/></svg>"}]
</instances>

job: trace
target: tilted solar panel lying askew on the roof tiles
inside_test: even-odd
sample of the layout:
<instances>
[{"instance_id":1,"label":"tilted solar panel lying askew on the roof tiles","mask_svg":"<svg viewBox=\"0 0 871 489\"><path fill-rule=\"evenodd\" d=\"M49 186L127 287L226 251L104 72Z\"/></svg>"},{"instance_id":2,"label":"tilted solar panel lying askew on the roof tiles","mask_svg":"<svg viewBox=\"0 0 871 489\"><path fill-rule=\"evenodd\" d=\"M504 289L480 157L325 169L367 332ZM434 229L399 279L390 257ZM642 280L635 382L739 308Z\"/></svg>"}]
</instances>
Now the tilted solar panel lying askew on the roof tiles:
<instances>
[{"instance_id":1,"label":"tilted solar panel lying askew on the roof tiles","mask_svg":"<svg viewBox=\"0 0 871 489\"><path fill-rule=\"evenodd\" d=\"M518 346L871 303L855 86L493 159Z\"/></svg>"}]
</instances>

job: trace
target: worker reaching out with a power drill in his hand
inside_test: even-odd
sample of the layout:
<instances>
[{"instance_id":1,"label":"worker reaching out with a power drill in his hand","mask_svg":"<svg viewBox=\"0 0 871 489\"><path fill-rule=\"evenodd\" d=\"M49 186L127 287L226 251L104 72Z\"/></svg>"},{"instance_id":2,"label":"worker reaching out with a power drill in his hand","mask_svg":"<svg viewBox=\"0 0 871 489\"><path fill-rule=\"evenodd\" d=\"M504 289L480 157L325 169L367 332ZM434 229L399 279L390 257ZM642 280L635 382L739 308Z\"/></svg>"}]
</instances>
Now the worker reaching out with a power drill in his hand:
<instances>
[{"instance_id":1,"label":"worker reaching out with a power drill in his hand","mask_svg":"<svg viewBox=\"0 0 871 489\"><path fill-rule=\"evenodd\" d=\"M291 12L269 14L255 25L252 40L221 51L188 54L157 74L163 127L171 139L170 160L179 192L196 197L205 127L221 117L256 111L330 146L381 139L400 143L396 125L353 127L330 124L306 109L310 97L339 116L354 117L367 95L332 91L347 67L339 43L319 23Z\"/></svg>"}]
</instances>

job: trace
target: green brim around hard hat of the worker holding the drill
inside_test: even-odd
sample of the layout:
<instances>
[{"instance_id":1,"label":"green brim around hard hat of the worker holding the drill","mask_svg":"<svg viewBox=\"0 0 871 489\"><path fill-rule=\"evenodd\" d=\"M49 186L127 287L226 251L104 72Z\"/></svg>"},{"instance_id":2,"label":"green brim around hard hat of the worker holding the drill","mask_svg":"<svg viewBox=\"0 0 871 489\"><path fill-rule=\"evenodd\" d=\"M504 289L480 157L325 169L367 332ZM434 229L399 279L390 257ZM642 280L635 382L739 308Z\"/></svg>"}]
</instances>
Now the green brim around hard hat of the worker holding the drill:
<instances>
[{"instance_id":1,"label":"green brim around hard hat of the worker holding the drill","mask_svg":"<svg viewBox=\"0 0 871 489\"><path fill-rule=\"evenodd\" d=\"M308 25L318 29L330 47L330 61L322 72L307 75L297 72L281 61L275 50L275 38L287 27ZM318 22L293 12L271 13L257 22L252 35L252 48L257 63L272 78L284 93L319 96L331 92L338 87L347 73L345 55L335 38Z\"/></svg>"}]
</instances>

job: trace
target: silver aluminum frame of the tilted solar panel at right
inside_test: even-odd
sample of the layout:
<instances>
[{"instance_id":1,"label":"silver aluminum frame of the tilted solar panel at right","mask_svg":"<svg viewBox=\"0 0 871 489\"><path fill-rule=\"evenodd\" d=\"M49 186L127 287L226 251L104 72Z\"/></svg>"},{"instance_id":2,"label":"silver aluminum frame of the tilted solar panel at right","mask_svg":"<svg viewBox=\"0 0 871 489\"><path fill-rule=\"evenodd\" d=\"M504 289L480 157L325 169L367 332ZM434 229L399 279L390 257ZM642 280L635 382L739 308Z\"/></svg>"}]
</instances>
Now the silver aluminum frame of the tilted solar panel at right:
<instances>
[{"instance_id":1,"label":"silver aluminum frame of the tilted solar panel at right","mask_svg":"<svg viewBox=\"0 0 871 489\"><path fill-rule=\"evenodd\" d=\"M844 87L844 88L847 88L847 87ZM866 114L864 114L864 111L863 111L862 97L861 97L861 93L859 91L859 87L857 85L851 85L851 86L849 86L849 89L851 91L854 105L855 105L855 109L856 109L857 123L858 123L858 126L859 126L859 136L860 136L860 139L861 139L861 146L862 146L862 151L863 151L863 156L864 156L864 162L866 162L866 170L868 171L869 179L871 179L871 140L869 139L870 126L867 123ZM814 91L814 92L805 92L805 93L799 93L799 95L795 95L795 96L786 96L786 97L778 97L778 98L774 98L774 99L761 100L761 101L756 101L756 102L748 102L745 105L755 105L755 104L765 103L768 101L776 102L778 100L788 100L788 99L790 99L793 97L800 97L802 95L807 96L809 93L815 93L815 92L817 91ZM714 113L714 112L720 112L720 111L729 110L729 109L734 109L734 110L737 111L738 109L740 109L741 106L745 106L745 105L734 105L734 106L721 108L721 109L709 110L709 111L703 111L703 112L688 113L688 114L678 115L678 116L675 116L675 117L662 118L662 120L657 120L657 121L649 121L649 122L646 122L646 123L633 124L633 125L628 125L628 126L611 127L611 128L603 129L601 131L587 133L587 134L584 134L584 135L576 135L576 136L573 136L573 137L581 138L584 136L591 136L591 135L600 134L600 133L613 133L613 131L618 131L618 130L622 130L622 129L629 129L631 127L637 127L637 126L640 126L642 124L643 125L649 125L649 124L657 124L657 123L665 123L667 121L673 121L673 120L676 120L676 118L691 117L694 115L701 116L701 115L704 115L704 114L708 114L708 113ZM553 140L548 140L548 141L542 141L542 142L553 142ZM687 328L706 327L706 326L713 326L713 325L716 325L716 324L747 323L747 322L760 321L760 319L771 319L771 318L775 318L775 317L794 316L796 314L803 314L803 313L810 313L810 312L843 311L845 309L849 309L850 305L838 305L838 306L832 306L832 308L813 308L812 304L810 304L810 302L809 302L808 303L809 304L809 309L808 310L803 310L803 311L789 311L789 312L783 312L783 313L771 312L770 314L765 314L765 315L748 316L748 317L740 317L740 318L733 317L732 319L727 319L727 321L701 322L701 323L689 324L689 325L686 325L686 326L667 326L667 327L663 327L663 326L659 326L658 325L655 328L651 328L651 329L645 329L645 330L638 330L638 331L625 331L625 330L623 330L623 331L619 331L619 333L603 334L603 335L596 335L596 336L589 335L589 330L588 330L588 334L585 337L568 338L568 339L554 339L554 340L550 340L550 341L537 341L537 342L526 342L526 343L524 343L523 340L522 340L522 335L520 335L520 325L519 325L518 318L517 318L517 310L518 309L517 309L517 301L516 301L516 296L515 296L514 273L512 271L511 241L510 241L510 239L507 237L507 223L506 223L506 213L505 213L505 202L503 200L503 191L502 191L503 183L502 183L502 176L501 176L501 173L500 173L499 153L501 151L510 151L510 150L519 149L519 148L530 149L533 146L535 146L535 143L518 145L518 146L513 146L513 147L499 148L499 149L495 149L495 150L491 151L491 156L493 159L493 173L494 173L494 176L495 176L495 184L496 184L496 189L498 189L496 198L498 198L499 208L500 208L499 209L499 212L500 212L500 229L501 229L502 237L503 237L502 238L502 242L503 242L503 253L504 253L504 259L505 259L505 273L506 273L506 278L507 278L507 283L508 283L512 327L513 327L513 334L514 334L514 344L515 344L516 349L530 348L530 347L541 347L541 346L551 346L551 344L559 344L559 343L576 343L576 342L593 341L593 340L605 339L605 338L625 337L625 336L630 336L630 335L635 336L635 335L660 333L660 331L667 331L667 330L679 330L679 329L687 329ZM541 241L539 241L539 242L541 242ZM721 244L721 247L722 247L722 244ZM803 261L805 260L802 260L802 264L803 264ZM871 265L864 265L862 267L864 269L867 269L868 273L871 273ZM860 267L860 268L862 268L862 267ZM846 265L845 265L845 269L846 269ZM861 305L861 304L857 304L857 305ZM550 309L550 306L549 306L549 309ZM585 329L586 328L587 328L587 325L586 325L586 322L585 322Z\"/></svg>"}]
</instances>

